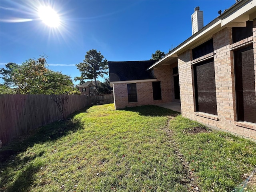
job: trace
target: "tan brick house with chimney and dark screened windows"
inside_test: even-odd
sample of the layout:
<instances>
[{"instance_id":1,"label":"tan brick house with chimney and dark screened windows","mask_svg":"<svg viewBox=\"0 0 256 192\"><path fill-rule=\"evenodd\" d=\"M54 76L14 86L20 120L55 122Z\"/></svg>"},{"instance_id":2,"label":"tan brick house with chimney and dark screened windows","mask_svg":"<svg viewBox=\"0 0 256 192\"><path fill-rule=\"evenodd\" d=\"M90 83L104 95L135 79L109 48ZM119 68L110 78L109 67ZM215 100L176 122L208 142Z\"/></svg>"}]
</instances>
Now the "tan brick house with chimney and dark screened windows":
<instances>
[{"instance_id":1,"label":"tan brick house with chimney and dark screened windows","mask_svg":"<svg viewBox=\"0 0 256 192\"><path fill-rule=\"evenodd\" d=\"M116 109L180 96L182 116L256 139L256 0L236 2L206 26L202 20L197 7L192 36L145 69L159 82L161 100L153 99L153 82L134 81L138 101L128 102L132 82L110 76Z\"/></svg>"}]
</instances>

